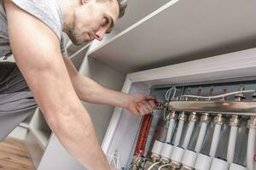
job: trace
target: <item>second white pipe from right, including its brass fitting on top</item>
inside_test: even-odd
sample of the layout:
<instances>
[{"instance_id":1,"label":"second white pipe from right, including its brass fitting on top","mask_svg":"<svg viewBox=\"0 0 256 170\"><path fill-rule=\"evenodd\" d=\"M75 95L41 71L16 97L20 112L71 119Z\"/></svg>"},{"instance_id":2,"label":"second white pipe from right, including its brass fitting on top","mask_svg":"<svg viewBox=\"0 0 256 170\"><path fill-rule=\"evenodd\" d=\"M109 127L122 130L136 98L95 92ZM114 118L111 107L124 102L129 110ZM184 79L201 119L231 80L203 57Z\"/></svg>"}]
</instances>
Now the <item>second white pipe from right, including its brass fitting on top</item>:
<instances>
[{"instance_id":1,"label":"second white pipe from right, including its brass fitting on top","mask_svg":"<svg viewBox=\"0 0 256 170\"><path fill-rule=\"evenodd\" d=\"M235 149L236 149L236 138L237 138L237 132L238 132L238 116L233 115L230 119L230 139L229 139L229 145L228 145L228 153L227 153L227 161L229 163L233 163L234 156L235 156Z\"/></svg>"}]
</instances>

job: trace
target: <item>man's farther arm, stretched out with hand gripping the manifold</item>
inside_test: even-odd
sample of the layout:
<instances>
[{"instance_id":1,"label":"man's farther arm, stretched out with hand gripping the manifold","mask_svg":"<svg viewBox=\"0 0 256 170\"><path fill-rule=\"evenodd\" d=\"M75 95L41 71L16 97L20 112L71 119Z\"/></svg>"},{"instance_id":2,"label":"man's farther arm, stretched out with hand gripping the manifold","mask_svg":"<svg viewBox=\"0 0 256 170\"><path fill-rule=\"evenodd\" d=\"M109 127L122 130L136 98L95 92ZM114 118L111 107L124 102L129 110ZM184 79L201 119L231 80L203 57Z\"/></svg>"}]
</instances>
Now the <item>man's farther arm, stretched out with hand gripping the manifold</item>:
<instances>
[{"instance_id":1,"label":"man's farther arm, stretched out with hand gripping the manifold","mask_svg":"<svg viewBox=\"0 0 256 170\"><path fill-rule=\"evenodd\" d=\"M95 104L122 107L137 116L143 116L154 111L156 106L154 97L142 94L125 94L104 88L89 77L80 75L67 55L64 55L63 59L79 99Z\"/></svg>"}]
</instances>

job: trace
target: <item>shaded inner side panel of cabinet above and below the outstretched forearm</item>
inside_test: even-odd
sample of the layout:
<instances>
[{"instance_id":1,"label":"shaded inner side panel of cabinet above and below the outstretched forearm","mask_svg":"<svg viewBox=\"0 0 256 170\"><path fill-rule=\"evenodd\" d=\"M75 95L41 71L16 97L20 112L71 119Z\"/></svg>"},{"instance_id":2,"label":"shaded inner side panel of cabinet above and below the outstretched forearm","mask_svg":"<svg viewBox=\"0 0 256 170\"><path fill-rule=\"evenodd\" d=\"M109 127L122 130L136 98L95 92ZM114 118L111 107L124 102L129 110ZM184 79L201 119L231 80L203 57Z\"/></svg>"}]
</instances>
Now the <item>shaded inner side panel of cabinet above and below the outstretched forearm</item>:
<instances>
[{"instance_id":1,"label":"shaded inner side panel of cabinet above and below the outstretched forearm","mask_svg":"<svg viewBox=\"0 0 256 170\"><path fill-rule=\"evenodd\" d=\"M125 75L87 57L84 59L79 72L80 74L90 77L94 81L102 84L104 87L118 91L121 90L125 82ZM94 123L96 137L99 142L102 143L102 139L108 128L108 123L113 114L113 107L108 105L93 105L85 102L83 104Z\"/></svg>"}]
</instances>

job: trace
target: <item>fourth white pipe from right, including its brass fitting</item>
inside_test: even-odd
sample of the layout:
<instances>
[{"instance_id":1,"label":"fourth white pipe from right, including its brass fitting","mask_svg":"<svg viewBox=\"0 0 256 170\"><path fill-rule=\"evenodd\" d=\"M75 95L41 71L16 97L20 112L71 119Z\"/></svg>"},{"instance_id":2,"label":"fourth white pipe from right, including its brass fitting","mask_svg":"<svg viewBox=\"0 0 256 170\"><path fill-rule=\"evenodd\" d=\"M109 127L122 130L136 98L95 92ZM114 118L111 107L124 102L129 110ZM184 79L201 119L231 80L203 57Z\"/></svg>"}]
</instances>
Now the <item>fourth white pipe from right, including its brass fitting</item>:
<instances>
[{"instance_id":1,"label":"fourth white pipe from right, including its brass fitting","mask_svg":"<svg viewBox=\"0 0 256 170\"><path fill-rule=\"evenodd\" d=\"M205 139L205 135L207 132L207 125L210 122L209 114L205 113L203 116L201 116L201 127L200 132L198 135L198 139L195 144L195 152L199 153L201 151L202 143Z\"/></svg>"}]
</instances>

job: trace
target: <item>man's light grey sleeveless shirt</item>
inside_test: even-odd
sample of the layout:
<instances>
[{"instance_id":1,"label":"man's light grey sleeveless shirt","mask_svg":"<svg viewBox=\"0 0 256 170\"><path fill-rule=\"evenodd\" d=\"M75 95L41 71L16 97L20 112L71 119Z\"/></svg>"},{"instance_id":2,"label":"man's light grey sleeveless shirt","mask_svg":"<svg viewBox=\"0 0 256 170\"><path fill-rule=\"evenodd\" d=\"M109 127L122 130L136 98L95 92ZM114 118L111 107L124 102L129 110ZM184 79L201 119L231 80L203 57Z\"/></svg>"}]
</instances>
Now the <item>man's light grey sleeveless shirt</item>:
<instances>
[{"instance_id":1,"label":"man's light grey sleeveless shirt","mask_svg":"<svg viewBox=\"0 0 256 170\"><path fill-rule=\"evenodd\" d=\"M28 14L41 20L60 40L61 54L65 54L64 38L61 35L63 20L61 8L56 0L11 0ZM3 0L0 0L0 57L8 57L11 53L9 46L8 22Z\"/></svg>"}]
</instances>

